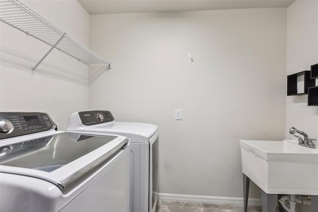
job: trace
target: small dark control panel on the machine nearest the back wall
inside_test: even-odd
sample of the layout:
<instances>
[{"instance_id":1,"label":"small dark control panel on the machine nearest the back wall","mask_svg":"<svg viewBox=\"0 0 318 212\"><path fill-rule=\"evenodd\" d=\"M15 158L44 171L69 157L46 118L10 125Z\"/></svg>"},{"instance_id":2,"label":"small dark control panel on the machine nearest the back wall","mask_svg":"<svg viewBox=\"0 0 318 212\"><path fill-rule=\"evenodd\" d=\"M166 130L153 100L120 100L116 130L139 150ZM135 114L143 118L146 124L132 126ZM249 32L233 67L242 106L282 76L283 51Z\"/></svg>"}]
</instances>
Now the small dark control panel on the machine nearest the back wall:
<instances>
[{"instance_id":1,"label":"small dark control panel on the machine nearest the back wall","mask_svg":"<svg viewBox=\"0 0 318 212\"><path fill-rule=\"evenodd\" d=\"M114 116L107 110L89 110L79 112L79 118L83 125L94 125L114 120Z\"/></svg>"}]
</instances>

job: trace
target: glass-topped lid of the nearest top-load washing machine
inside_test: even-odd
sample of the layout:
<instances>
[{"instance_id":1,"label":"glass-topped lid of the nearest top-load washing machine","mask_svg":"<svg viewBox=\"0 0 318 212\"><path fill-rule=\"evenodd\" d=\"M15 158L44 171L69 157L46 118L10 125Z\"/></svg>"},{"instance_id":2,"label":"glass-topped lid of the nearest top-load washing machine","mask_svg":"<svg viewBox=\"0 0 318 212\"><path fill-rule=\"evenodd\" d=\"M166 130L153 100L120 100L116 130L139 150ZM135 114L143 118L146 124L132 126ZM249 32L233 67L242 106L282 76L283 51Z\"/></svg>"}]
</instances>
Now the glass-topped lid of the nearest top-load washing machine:
<instances>
[{"instance_id":1,"label":"glass-topped lid of the nearest top-load washing machine","mask_svg":"<svg viewBox=\"0 0 318 212\"><path fill-rule=\"evenodd\" d=\"M0 172L47 180L67 188L128 145L123 136L58 133L0 146Z\"/></svg>"}]
</instances>

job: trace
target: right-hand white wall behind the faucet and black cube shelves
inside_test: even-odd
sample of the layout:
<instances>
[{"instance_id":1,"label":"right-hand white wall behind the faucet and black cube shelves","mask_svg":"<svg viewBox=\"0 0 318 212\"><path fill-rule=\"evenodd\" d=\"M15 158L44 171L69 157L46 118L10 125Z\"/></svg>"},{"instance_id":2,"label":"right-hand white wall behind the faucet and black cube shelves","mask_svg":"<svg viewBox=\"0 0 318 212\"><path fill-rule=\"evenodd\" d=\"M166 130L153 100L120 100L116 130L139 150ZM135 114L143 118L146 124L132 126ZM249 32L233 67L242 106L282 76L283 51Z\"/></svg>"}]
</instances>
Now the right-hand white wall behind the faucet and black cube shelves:
<instances>
[{"instance_id":1,"label":"right-hand white wall behind the faucet and black cube shelves","mask_svg":"<svg viewBox=\"0 0 318 212\"><path fill-rule=\"evenodd\" d=\"M310 70L310 66L317 63L318 1L297 0L287 8L287 75ZM318 107L307 106L307 98L307 95L287 97L287 138L293 138L288 129L296 127L307 132L310 138L318 139Z\"/></svg>"}]
</instances>

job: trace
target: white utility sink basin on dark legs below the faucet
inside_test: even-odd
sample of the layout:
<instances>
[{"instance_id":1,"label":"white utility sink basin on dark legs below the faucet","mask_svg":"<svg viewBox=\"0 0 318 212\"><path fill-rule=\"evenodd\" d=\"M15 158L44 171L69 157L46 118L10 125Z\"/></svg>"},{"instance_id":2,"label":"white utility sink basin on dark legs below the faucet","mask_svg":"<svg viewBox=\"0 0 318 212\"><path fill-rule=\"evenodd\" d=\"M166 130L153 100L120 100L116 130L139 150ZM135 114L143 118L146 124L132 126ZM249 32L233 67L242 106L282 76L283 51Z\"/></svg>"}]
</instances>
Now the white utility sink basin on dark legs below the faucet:
<instances>
[{"instance_id":1,"label":"white utility sink basin on dark legs below the faucet","mask_svg":"<svg viewBox=\"0 0 318 212\"><path fill-rule=\"evenodd\" d=\"M318 195L318 148L240 140L242 172L267 194Z\"/></svg>"}]
</instances>

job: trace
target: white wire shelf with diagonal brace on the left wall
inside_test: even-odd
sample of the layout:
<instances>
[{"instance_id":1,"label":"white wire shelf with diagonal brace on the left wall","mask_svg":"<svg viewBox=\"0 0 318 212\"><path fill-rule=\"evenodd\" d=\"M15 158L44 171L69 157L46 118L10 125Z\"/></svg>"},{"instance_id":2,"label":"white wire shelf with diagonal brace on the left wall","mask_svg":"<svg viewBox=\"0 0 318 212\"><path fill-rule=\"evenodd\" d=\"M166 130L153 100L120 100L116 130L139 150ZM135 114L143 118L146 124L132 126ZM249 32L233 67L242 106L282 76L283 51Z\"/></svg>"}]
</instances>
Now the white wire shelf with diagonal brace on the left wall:
<instances>
[{"instance_id":1,"label":"white wire shelf with diagonal brace on the left wall","mask_svg":"<svg viewBox=\"0 0 318 212\"><path fill-rule=\"evenodd\" d=\"M52 47L32 70L54 48L87 65L106 64L111 67L111 63L89 50L19 0L0 0L0 20Z\"/></svg>"}]
</instances>

